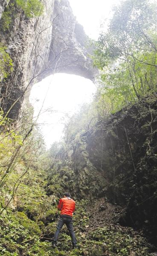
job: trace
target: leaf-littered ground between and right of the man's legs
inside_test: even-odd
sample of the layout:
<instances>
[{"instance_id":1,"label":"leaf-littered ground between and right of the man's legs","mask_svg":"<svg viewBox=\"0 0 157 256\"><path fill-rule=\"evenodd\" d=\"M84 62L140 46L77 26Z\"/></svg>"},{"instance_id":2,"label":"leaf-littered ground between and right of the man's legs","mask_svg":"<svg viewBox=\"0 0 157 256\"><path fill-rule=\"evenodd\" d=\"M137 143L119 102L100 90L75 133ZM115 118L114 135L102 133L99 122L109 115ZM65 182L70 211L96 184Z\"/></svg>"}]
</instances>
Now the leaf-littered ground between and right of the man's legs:
<instances>
[{"instance_id":1,"label":"leaf-littered ground between and right of the man's legs","mask_svg":"<svg viewBox=\"0 0 157 256\"><path fill-rule=\"evenodd\" d=\"M73 250L67 228L58 239L55 256L156 256L156 248L148 243L141 231L122 227L118 220L121 207L109 204L104 198L77 204L74 228L78 248ZM56 221L57 224L57 221Z\"/></svg>"}]
</instances>

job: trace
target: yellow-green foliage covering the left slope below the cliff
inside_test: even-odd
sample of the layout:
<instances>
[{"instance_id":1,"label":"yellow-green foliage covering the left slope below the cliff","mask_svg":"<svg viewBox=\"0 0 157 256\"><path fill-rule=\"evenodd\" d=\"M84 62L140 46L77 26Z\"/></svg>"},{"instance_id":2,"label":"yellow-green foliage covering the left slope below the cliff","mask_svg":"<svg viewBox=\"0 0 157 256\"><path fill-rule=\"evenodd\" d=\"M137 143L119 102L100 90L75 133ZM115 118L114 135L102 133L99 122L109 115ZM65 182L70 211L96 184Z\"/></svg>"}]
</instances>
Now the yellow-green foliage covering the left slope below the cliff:
<instances>
[{"instance_id":1,"label":"yellow-green foliage covering the left slope below the cliff","mask_svg":"<svg viewBox=\"0 0 157 256\"><path fill-rule=\"evenodd\" d=\"M56 209L45 189L44 141L32 131L30 113L21 122L15 127L0 111L0 255L48 256L40 236Z\"/></svg>"}]
</instances>

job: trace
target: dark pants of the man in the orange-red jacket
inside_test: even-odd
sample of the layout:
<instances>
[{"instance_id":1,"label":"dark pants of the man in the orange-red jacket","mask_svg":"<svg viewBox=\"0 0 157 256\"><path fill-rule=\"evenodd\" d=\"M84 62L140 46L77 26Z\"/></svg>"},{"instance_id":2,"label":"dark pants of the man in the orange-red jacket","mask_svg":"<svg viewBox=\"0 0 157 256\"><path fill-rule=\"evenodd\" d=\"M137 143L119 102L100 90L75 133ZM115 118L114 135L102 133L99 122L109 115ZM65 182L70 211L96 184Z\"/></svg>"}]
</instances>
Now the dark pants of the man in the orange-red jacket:
<instances>
[{"instance_id":1,"label":"dark pants of the man in the orange-red jacket","mask_svg":"<svg viewBox=\"0 0 157 256\"><path fill-rule=\"evenodd\" d=\"M73 230L73 220L72 218L67 218L67 217L60 217L59 221L58 221L58 225L57 225L57 230L55 231L55 236L53 241L56 242L59 236L59 233L61 232L61 228L63 227L63 225L66 224L67 225L67 229L69 230L70 236L71 236L71 240L72 240L72 244L76 245L76 237L75 237L75 233Z\"/></svg>"}]
</instances>

